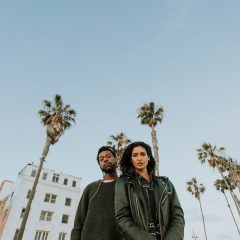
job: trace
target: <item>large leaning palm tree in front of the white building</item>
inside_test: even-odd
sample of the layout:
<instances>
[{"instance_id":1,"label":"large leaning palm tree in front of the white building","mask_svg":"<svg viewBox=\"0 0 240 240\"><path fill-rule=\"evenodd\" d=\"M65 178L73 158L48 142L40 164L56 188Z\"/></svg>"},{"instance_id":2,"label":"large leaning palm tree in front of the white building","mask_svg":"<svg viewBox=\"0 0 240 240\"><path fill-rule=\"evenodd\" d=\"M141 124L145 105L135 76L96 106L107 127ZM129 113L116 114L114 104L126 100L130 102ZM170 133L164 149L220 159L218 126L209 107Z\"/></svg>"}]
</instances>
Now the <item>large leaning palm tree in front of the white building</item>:
<instances>
[{"instance_id":1,"label":"large leaning palm tree in front of the white building","mask_svg":"<svg viewBox=\"0 0 240 240\"><path fill-rule=\"evenodd\" d=\"M43 100L43 109L38 111L44 126L47 126L47 136L45 146L43 148L40 164L37 174L34 179L31 194L28 199L27 207L24 212L22 223L19 229L17 240L22 240L31 204L35 195L36 187L43 167L43 163L48 154L50 145L55 144L64 131L71 127L72 122L75 122L76 112L70 105L64 105L60 95L55 95L53 103L48 100Z\"/></svg>"}]
</instances>

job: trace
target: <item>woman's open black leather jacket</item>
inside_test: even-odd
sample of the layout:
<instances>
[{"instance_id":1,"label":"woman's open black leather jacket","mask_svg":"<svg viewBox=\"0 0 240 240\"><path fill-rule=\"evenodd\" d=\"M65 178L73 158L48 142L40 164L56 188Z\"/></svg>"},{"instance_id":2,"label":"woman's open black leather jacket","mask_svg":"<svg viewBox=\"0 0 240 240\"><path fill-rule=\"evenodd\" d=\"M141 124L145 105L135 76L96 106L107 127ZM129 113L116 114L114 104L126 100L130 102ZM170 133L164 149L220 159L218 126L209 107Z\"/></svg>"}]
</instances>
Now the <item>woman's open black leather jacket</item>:
<instances>
[{"instance_id":1,"label":"woman's open black leather jacket","mask_svg":"<svg viewBox=\"0 0 240 240\"><path fill-rule=\"evenodd\" d=\"M184 214L173 184L167 177L153 177L161 240L183 240ZM126 240L154 240L148 233L148 213L137 178L125 174L115 185L115 218Z\"/></svg>"}]
</instances>

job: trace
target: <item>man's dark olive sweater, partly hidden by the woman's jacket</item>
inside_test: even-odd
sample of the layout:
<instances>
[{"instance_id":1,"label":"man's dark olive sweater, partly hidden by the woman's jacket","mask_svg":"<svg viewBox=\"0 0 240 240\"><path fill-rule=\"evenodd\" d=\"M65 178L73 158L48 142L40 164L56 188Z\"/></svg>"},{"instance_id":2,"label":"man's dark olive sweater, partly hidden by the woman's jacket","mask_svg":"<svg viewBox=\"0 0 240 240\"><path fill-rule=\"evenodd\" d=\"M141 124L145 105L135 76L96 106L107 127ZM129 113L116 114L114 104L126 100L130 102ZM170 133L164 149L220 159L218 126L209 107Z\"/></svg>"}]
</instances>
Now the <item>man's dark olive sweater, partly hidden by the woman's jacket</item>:
<instances>
[{"instance_id":1,"label":"man's dark olive sweater, partly hidden by the woman's jacket","mask_svg":"<svg viewBox=\"0 0 240 240\"><path fill-rule=\"evenodd\" d=\"M71 240L120 240L114 219L115 182L89 184L80 199Z\"/></svg>"}]
</instances>

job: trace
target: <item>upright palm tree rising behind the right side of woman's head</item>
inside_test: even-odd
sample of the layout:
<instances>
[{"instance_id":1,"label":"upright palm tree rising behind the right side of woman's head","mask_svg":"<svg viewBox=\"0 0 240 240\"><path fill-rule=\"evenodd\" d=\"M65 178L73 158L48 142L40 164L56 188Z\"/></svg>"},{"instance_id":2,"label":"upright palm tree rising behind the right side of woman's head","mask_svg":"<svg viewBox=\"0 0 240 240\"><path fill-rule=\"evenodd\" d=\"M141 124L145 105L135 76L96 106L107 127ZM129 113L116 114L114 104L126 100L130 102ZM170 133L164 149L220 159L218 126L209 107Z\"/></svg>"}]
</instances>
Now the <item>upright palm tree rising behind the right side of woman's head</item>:
<instances>
[{"instance_id":1,"label":"upright palm tree rising behind the right side of woman's head","mask_svg":"<svg viewBox=\"0 0 240 240\"><path fill-rule=\"evenodd\" d=\"M158 141L155 127L163 120L163 107L156 107L154 102L146 103L138 109L137 118L141 118L141 124L147 125L152 129L152 144L154 159L156 162L155 173L159 176L159 157L158 157Z\"/></svg>"}]
</instances>

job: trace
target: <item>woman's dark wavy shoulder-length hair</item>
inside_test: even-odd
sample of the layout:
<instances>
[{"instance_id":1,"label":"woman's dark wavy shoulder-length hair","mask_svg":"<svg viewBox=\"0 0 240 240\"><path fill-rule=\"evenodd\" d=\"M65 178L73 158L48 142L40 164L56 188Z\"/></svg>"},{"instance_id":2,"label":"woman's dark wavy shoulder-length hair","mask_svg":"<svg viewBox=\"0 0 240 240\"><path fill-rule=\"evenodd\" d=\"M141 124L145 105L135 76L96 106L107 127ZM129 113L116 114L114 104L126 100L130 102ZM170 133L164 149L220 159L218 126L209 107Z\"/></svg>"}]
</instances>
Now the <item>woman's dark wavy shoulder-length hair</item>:
<instances>
[{"instance_id":1,"label":"woman's dark wavy shoulder-length hair","mask_svg":"<svg viewBox=\"0 0 240 240\"><path fill-rule=\"evenodd\" d=\"M146 150L147 155L149 157L149 162L148 162L148 165L147 165L148 173L154 174L155 160L154 160L153 155L152 155L152 149L148 144L146 144L144 142L133 142L133 143L129 144L127 146L127 148L125 149L125 151L123 152L122 158L121 158L120 163L119 163L120 169L121 169L123 174L135 172L135 168L134 168L134 166L131 162L132 151L135 147L139 147L139 146L143 147Z\"/></svg>"}]
</instances>

